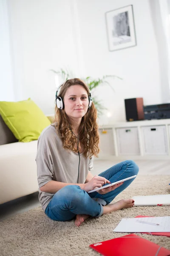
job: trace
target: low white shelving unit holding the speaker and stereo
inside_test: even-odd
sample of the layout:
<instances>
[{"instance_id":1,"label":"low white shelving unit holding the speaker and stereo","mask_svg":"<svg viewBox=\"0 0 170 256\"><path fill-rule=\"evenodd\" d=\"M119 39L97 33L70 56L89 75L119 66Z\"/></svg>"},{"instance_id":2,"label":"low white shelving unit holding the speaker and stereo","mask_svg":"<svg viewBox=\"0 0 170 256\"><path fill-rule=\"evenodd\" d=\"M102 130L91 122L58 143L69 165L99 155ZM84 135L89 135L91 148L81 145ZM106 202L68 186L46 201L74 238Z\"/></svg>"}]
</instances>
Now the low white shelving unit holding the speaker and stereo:
<instances>
[{"instance_id":1,"label":"low white shelving unit holding the speaker and stereo","mask_svg":"<svg viewBox=\"0 0 170 256\"><path fill-rule=\"evenodd\" d=\"M170 159L170 119L99 127L99 158Z\"/></svg>"}]
</instances>

